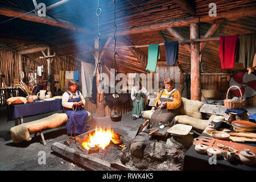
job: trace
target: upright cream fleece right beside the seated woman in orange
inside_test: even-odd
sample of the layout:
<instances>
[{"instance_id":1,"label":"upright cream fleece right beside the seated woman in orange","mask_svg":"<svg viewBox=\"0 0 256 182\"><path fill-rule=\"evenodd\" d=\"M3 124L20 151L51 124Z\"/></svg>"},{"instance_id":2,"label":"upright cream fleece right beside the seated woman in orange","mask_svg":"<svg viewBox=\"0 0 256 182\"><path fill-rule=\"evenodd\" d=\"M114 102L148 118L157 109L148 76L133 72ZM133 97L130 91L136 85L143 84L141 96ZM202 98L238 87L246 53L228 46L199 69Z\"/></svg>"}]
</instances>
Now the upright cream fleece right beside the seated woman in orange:
<instances>
[{"instance_id":1,"label":"upright cream fleece right beside the seated woman in orange","mask_svg":"<svg viewBox=\"0 0 256 182\"><path fill-rule=\"evenodd\" d=\"M181 106L179 107L179 113L181 115L188 115L193 118L202 119L200 108L204 102L188 100L187 98L181 97Z\"/></svg>"}]
</instances>

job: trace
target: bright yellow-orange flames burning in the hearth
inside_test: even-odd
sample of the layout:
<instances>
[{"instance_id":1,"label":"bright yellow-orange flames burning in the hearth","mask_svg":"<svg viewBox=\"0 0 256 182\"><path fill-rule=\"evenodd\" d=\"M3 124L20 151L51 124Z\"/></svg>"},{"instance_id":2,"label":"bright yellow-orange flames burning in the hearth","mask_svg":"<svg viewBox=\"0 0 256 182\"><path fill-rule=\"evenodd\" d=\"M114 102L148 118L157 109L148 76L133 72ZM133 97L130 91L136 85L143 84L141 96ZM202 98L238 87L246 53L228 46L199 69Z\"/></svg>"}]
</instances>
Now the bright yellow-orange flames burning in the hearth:
<instances>
[{"instance_id":1,"label":"bright yellow-orange flames burning in the hearth","mask_svg":"<svg viewBox=\"0 0 256 182\"><path fill-rule=\"evenodd\" d=\"M112 140L115 143L114 132L110 129L96 129L95 132L89 134L89 139L82 143L82 146L89 150L92 147L100 147L104 149Z\"/></svg>"}]
</instances>

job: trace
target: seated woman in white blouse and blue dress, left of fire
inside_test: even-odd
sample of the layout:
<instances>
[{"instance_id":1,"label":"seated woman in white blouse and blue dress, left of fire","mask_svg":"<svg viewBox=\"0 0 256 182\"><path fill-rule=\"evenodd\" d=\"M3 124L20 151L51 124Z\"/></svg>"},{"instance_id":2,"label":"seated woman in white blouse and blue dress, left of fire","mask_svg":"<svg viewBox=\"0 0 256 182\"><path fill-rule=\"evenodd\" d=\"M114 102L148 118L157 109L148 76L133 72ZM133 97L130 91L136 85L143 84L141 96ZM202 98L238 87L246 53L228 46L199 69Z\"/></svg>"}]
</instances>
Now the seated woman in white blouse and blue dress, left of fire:
<instances>
[{"instance_id":1,"label":"seated woman in white blouse and blue dress, left of fire","mask_svg":"<svg viewBox=\"0 0 256 182\"><path fill-rule=\"evenodd\" d=\"M69 80L68 90L62 96L62 105L64 113L68 115L68 121L65 127L68 135L71 134L71 129L72 134L74 133L74 129L76 135L85 133L87 123L84 121L87 121L88 112L84 109L85 99L81 92L77 90L77 82L75 80ZM73 125L76 126L72 127Z\"/></svg>"}]
</instances>

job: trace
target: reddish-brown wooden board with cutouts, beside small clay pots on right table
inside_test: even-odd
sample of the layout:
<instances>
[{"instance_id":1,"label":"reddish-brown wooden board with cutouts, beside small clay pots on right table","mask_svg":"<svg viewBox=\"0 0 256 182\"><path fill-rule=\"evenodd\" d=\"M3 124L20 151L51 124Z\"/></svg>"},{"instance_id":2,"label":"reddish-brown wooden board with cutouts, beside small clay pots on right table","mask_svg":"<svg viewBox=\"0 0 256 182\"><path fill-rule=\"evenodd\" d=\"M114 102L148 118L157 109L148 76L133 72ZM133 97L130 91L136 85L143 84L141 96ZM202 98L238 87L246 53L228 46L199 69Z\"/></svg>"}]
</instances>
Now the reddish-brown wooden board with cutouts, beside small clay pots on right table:
<instances>
[{"instance_id":1,"label":"reddish-brown wooden board with cutouts, beside small clay pots on right table","mask_svg":"<svg viewBox=\"0 0 256 182\"><path fill-rule=\"evenodd\" d=\"M225 147L232 147L232 148L236 149L238 151L236 155L240 154L240 152L245 150L245 148L249 148L251 152L256 154L256 147L248 146L248 145L241 144L241 143L234 143L234 142L230 142L228 140L219 140L219 139L209 138L209 137L197 137L193 141L194 146L196 144L204 144L208 148L210 148L210 147L218 148L217 143L223 144Z\"/></svg>"}]
</instances>

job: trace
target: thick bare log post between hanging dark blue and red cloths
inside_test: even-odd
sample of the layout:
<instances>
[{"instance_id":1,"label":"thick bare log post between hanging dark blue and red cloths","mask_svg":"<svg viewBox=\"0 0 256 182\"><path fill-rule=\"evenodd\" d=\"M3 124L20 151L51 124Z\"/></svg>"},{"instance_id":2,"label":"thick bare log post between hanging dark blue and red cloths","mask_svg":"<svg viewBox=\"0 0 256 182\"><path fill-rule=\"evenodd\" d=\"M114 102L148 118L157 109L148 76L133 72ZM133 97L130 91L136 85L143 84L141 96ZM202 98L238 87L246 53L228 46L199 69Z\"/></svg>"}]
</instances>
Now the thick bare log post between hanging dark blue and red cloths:
<instances>
[{"instance_id":1,"label":"thick bare log post between hanging dark blue and red cloths","mask_svg":"<svg viewBox=\"0 0 256 182\"><path fill-rule=\"evenodd\" d=\"M199 38L199 24L190 24L190 39ZM191 43L191 100L201 101L199 43Z\"/></svg>"}]
</instances>

